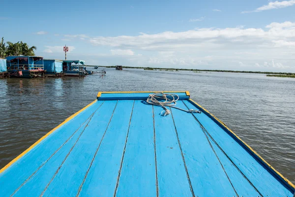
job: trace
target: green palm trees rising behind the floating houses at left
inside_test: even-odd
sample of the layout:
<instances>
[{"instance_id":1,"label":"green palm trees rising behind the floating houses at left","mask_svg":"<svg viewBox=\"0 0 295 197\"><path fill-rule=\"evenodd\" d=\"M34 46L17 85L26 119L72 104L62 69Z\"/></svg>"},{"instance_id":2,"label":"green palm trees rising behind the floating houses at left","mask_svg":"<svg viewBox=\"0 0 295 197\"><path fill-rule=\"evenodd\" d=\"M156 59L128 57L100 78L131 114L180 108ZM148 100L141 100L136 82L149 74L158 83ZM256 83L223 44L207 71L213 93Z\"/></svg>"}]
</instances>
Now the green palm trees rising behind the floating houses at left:
<instances>
[{"instance_id":1,"label":"green palm trees rising behind the floating houses at left","mask_svg":"<svg viewBox=\"0 0 295 197\"><path fill-rule=\"evenodd\" d=\"M0 58L5 58L7 56L20 56L20 55L34 56L35 50L37 50L36 46L29 47L29 45L23 41L19 41L16 43L12 43L12 42L5 43L3 37L0 41Z\"/></svg>"}]
</instances>

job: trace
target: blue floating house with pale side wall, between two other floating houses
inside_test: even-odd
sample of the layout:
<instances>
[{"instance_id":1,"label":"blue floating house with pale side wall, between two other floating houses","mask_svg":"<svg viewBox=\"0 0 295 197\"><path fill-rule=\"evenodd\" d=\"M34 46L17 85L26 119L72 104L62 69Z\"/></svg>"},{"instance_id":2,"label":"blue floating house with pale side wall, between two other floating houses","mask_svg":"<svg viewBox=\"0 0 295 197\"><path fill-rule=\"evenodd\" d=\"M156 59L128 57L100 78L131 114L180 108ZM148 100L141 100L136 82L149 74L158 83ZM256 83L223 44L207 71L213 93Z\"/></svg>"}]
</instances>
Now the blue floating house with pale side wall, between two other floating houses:
<instances>
[{"instance_id":1,"label":"blue floating house with pale side wall, between two other floating houses","mask_svg":"<svg viewBox=\"0 0 295 197\"><path fill-rule=\"evenodd\" d=\"M62 77L62 60L55 59L43 59L45 76L47 77ZM38 61L37 64L42 64L42 60Z\"/></svg>"}]
</instances>

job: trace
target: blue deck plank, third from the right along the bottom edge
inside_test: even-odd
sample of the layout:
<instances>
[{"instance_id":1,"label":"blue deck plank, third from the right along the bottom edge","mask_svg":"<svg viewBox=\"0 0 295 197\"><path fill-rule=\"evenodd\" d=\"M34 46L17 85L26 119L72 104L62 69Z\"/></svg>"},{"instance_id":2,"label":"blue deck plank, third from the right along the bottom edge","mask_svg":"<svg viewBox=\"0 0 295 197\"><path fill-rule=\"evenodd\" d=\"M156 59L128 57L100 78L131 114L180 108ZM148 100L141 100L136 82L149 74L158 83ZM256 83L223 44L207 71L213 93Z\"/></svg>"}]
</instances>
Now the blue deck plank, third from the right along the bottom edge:
<instances>
[{"instance_id":1,"label":"blue deck plank, third from the right along the bottom edge","mask_svg":"<svg viewBox=\"0 0 295 197\"><path fill-rule=\"evenodd\" d=\"M176 106L186 109L181 101ZM172 115L195 196L236 197L231 182L192 114L172 108Z\"/></svg>"}]
</instances>

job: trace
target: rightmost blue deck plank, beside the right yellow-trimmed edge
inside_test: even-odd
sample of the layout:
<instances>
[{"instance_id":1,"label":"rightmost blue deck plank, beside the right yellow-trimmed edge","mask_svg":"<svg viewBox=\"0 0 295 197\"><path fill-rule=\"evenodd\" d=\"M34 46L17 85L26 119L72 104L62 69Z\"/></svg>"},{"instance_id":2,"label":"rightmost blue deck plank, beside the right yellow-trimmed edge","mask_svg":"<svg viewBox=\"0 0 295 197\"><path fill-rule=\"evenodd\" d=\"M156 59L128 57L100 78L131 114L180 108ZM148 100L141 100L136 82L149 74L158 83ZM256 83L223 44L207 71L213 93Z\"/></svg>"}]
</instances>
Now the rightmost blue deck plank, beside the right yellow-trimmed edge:
<instances>
[{"instance_id":1,"label":"rightmost blue deck plank, beside the right yellow-trimmed edge","mask_svg":"<svg viewBox=\"0 0 295 197\"><path fill-rule=\"evenodd\" d=\"M185 100L189 109L197 109ZM293 191L260 163L248 150L236 141L227 131L223 130L205 113L194 114L216 144L226 153L243 175L254 185L263 196L293 197ZM263 181L262 181L263 180Z\"/></svg>"}]
</instances>

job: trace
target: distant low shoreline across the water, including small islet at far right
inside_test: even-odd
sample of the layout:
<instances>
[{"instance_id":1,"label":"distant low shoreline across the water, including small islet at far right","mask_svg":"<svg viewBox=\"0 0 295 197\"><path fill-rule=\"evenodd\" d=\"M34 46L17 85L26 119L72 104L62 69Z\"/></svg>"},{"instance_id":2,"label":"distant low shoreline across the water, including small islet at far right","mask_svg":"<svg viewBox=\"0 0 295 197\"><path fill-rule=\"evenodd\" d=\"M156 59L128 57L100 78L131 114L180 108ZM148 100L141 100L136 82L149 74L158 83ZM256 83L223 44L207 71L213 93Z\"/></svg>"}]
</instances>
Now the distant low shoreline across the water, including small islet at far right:
<instances>
[{"instance_id":1,"label":"distant low shoreline across the water, including small islet at far right","mask_svg":"<svg viewBox=\"0 0 295 197\"><path fill-rule=\"evenodd\" d=\"M86 65L91 66L92 65ZM98 67L113 67L116 66L98 66ZM257 73L257 74L267 74L266 76L275 77L295 77L295 73L292 72L263 72L263 71L238 71L238 70L207 70L207 69L186 69L186 68L159 68L159 67L133 67L133 66L122 66L123 68L141 68L146 70L188 70L188 71L207 71L207 72L236 72L236 73ZM286 76L285 76L286 75Z\"/></svg>"}]
</instances>

